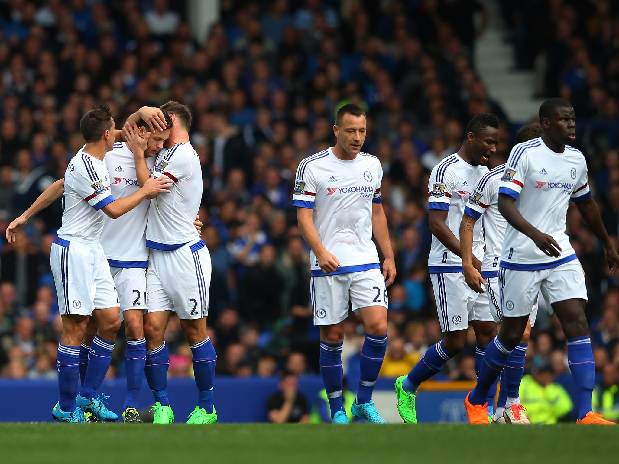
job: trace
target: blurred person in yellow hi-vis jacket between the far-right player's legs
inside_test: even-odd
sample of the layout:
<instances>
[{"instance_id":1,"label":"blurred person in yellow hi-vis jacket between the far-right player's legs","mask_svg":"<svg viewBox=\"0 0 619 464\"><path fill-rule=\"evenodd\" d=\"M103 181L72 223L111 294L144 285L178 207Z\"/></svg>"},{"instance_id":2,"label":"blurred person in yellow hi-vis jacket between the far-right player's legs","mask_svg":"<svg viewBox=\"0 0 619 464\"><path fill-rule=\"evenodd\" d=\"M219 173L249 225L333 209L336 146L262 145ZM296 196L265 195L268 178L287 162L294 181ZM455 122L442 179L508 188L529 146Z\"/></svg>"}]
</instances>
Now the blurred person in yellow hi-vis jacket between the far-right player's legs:
<instances>
[{"instance_id":1,"label":"blurred person in yellow hi-vis jacket between the far-right player's legs","mask_svg":"<svg viewBox=\"0 0 619 464\"><path fill-rule=\"evenodd\" d=\"M555 372L548 364L537 366L533 374L522 377L520 402L532 424L556 424L572 410L568 392L554 380Z\"/></svg>"}]
</instances>

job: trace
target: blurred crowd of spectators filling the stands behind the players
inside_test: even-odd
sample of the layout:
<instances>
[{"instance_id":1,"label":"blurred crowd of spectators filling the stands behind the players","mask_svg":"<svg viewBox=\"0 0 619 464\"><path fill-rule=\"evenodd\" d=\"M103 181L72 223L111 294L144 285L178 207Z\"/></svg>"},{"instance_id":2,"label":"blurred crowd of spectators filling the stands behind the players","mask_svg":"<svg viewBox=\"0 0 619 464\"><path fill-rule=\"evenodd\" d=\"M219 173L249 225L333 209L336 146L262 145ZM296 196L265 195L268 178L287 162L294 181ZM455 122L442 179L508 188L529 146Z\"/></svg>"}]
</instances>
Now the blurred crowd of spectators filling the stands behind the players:
<instances>
[{"instance_id":1,"label":"blurred crowd of spectators filling the stands behind the players","mask_svg":"<svg viewBox=\"0 0 619 464\"><path fill-rule=\"evenodd\" d=\"M182 3L0 2L0 377L54 378L62 330L49 264L60 202L31 221L15 244L4 241L6 226L64 176L84 143L80 116L93 104L109 105L118 125L141 106L168 100L193 113L191 142L205 187L202 238L213 267L209 333L218 374L232 376L318 372L319 332L309 306L308 249L291 205L293 176L303 158L334 144L337 108L353 102L367 111L363 151L383 165L398 271L389 288L381 375L406 374L441 339L427 269L428 174L457 151L475 114L501 120L490 167L506 160L514 130L529 122L508 121L475 72L482 5L222 0L220 22L199 44ZM542 3L547 9L540 14L539 2L501 2L509 39L519 67L542 69L540 92L566 98L586 119L579 121L576 146L587 155L589 181L616 241L617 7L607 0ZM532 7L537 14L527 14ZM575 208L568 228L587 275L587 316L599 388L606 391L618 377L619 288ZM359 322L351 316L345 324L348 385L357 384L358 372L348 364L358 366L352 361L363 340ZM469 338L444 379L475 380L475 338ZM190 376L191 350L178 319L171 320L166 343L169 375ZM116 346L110 377L123 375L124 345ZM546 311L532 335L527 371L569 376L565 336Z\"/></svg>"}]
</instances>

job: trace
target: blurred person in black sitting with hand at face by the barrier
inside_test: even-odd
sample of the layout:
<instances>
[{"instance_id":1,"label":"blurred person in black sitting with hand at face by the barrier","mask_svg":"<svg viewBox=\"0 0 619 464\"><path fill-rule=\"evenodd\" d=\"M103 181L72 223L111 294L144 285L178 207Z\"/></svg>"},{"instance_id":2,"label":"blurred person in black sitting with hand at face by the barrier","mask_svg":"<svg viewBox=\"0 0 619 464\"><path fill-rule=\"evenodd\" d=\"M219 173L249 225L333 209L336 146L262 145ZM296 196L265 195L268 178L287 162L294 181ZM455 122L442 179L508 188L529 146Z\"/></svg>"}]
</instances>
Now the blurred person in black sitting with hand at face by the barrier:
<instances>
[{"instance_id":1,"label":"blurred person in black sitting with hand at face by the barrier","mask_svg":"<svg viewBox=\"0 0 619 464\"><path fill-rule=\"evenodd\" d=\"M279 392L267 398L267 420L276 424L308 422L308 402L305 395L298 392L295 374L285 373L279 382Z\"/></svg>"}]
</instances>

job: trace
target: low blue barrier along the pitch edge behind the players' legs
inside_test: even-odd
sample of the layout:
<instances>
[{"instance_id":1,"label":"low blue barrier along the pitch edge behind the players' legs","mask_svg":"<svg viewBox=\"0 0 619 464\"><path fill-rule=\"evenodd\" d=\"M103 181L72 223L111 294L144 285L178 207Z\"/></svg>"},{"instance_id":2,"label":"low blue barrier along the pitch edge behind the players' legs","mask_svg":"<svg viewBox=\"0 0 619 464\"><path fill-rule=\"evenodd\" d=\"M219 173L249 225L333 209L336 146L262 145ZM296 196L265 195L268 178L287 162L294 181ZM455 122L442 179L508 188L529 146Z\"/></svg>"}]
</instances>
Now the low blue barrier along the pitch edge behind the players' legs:
<instances>
[{"instance_id":1,"label":"low blue barrier along the pitch edge behind the players' legs","mask_svg":"<svg viewBox=\"0 0 619 464\"><path fill-rule=\"evenodd\" d=\"M219 422L264 422L267 419L267 398L277 392L277 377L224 377L215 379L214 403ZM394 379L378 379L374 402L388 422L401 423L397 414ZM474 387L472 382L426 382L418 395L417 415L420 422L465 421L464 397ZM314 402L322 389L320 376L303 376L299 390ZM100 393L110 396L109 407L121 414L126 382L124 378L105 380ZM196 407L197 393L193 379L168 379L168 396L176 422L186 421ZM58 382L55 380L0 380L0 421L51 421L51 409L58 401ZM139 409L148 411L154 404L146 381L139 397Z\"/></svg>"}]
</instances>

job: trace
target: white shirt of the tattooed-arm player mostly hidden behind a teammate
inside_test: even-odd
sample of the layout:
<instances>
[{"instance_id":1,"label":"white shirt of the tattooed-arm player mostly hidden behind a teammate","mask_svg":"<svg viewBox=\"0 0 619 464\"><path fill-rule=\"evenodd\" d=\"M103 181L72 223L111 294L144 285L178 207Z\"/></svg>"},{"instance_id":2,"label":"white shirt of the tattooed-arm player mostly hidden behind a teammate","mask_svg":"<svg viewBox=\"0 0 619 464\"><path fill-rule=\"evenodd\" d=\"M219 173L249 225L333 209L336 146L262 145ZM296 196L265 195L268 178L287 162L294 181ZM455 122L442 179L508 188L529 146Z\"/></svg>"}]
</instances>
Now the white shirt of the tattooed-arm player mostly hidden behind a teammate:
<instances>
[{"instance_id":1,"label":"white shirt of the tattooed-arm player mostly hidden behind a teammate","mask_svg":"<svg viewBox=\"0 0 619 464\"><path fill-rule=\"evenodd\" d=\"M482 259L482 277L497 277L507 221L499 212L498 198L505 165L496 166L484 174L470 194L464 212L477 220L483 215L483 242L486 251Z\"/></svg>"}]
</instances>

